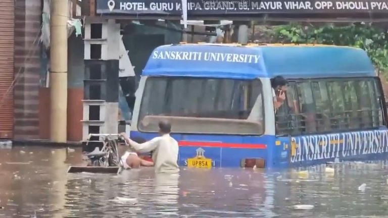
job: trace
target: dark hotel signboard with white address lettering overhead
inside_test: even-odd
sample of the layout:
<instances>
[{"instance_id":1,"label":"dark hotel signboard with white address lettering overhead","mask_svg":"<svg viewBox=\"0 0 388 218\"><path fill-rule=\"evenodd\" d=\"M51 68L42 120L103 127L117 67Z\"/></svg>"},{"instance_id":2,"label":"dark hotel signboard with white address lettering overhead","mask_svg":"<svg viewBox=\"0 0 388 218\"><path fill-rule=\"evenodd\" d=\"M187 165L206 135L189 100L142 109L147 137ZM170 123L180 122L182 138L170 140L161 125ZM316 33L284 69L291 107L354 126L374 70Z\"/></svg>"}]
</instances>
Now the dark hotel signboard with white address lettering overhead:
<instances>
[{"instance_id":1,"label":"dark hotel signboard with white address lettering overhead","mask_svg":"<svg viewBox=\"0 0 388 218\"><path fill-rule=\"evenodd\" d=\"M257 14L382 14L388 1L271 1L271 0L95 0L96 14L181 16L187 1L188 17Z\"/></svg>"}]
</instances>

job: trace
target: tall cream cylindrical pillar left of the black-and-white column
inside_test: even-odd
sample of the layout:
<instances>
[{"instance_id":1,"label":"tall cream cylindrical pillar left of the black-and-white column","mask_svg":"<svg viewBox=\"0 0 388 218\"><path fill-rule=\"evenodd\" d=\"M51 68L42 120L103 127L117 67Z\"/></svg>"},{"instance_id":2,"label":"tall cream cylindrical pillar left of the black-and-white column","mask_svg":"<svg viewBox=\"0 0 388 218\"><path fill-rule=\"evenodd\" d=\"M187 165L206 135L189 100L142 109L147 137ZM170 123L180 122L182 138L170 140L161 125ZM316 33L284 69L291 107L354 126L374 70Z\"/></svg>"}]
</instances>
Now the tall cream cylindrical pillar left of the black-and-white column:
<instances>
[{"instance_id":1,"label":"tall cream cylindrical pillar left of the black-and-white column","mask_svg":"<svg viewBox=\"0 0 388 218\"><path fill-rule=\"evenodd\" d=\"M50 139L67 141L67 20L68 1L51 1Z\"/></svg>"}]
</instances>

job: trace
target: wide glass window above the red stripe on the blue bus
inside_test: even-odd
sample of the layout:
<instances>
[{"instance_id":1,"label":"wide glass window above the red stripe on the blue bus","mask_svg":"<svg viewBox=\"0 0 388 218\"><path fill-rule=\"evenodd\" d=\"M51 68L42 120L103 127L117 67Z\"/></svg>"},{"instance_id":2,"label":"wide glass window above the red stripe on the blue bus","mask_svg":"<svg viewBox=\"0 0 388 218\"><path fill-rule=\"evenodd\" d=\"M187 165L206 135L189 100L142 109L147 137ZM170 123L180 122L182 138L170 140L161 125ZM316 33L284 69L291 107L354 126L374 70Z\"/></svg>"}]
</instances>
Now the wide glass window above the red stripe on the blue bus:
<instances>
[{"instance_id":1,"label":"wide glass window above the red stripe on the blue bus","mask_svg":"<svg viewBox=\"0 0 388 218\"><path fill-rule=\"evenodd\" d=\"M157 132L160 119L172 132L261 135L264 132L259 79L149 77L138 129Z\"/></svg>"}]
</instances>

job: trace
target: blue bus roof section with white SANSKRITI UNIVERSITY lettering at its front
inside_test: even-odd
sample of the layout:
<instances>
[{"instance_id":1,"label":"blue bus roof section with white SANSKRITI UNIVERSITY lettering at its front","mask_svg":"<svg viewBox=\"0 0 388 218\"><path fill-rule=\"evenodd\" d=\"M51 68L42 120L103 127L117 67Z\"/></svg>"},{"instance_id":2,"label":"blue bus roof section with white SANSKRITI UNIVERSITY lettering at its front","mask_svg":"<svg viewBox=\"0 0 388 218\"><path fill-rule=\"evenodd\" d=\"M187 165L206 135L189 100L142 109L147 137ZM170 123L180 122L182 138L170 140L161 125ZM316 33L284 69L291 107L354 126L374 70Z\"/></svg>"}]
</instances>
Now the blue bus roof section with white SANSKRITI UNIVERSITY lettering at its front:
<instances>
[{"instance_id":1,"label":"blue bus roof section with white SANSKRITI UNIVERSITY lettering at its front","mask_svg":"<svg viewBox=\"0 0 388 218\"><path fill-rule=\"evenodd\" d=\"M375 76L366 52L327 45L176 44L157 47L144 76L254 79Z\"/></svg>"}]
</instances>

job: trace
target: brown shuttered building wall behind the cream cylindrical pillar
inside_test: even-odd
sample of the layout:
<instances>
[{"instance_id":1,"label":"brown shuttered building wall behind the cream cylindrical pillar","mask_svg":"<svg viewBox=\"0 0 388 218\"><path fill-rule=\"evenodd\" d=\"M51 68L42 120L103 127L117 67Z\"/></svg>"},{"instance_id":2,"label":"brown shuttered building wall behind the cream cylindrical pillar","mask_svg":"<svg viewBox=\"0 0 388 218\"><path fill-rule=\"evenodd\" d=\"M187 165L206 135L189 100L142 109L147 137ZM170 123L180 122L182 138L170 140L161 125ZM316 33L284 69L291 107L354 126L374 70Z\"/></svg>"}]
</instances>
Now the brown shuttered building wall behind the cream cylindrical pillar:
<instances>
[{"instance_id":1,"label":"brown shuttered building wall behind the cream cylindrical pillar","mask_svg":"<svg viewBox=\"0 0 388 218\"><path fill-rule=\"evenodd\" d=\"M41 0L0 1L0 139L50 137L50 52L40 43L43 4ZM78 76L83 74L81 36L71 35L69 50L68 113L72 116L68 116L68 140L79 141L83 99L83 81Z\"/></svg>"}]
</instances>

